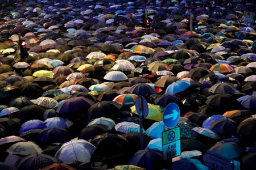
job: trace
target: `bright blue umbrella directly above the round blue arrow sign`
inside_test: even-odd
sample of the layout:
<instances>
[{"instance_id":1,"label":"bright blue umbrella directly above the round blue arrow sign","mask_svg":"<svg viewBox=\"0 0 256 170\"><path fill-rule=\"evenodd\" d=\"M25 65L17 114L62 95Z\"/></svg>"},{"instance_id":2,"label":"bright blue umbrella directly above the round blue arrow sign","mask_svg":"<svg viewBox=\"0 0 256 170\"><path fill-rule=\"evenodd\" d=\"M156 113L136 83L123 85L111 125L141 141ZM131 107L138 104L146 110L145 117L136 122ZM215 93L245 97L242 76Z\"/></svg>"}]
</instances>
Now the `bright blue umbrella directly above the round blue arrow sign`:
<instances>
[{"instance_id":1,"label":"bright blue umbrella directly above the round blue arrow sign","mask_svg":"<svg viewBox=\"0 0 256 170\"><path fill-rule=\"evenodd\" d=\"M183 80L177 80L176 82L171 83L166 88L166 94L167 95L175 95L179 92L183 92L190 86L190 83Z\"/></svg>"}]
</instances>

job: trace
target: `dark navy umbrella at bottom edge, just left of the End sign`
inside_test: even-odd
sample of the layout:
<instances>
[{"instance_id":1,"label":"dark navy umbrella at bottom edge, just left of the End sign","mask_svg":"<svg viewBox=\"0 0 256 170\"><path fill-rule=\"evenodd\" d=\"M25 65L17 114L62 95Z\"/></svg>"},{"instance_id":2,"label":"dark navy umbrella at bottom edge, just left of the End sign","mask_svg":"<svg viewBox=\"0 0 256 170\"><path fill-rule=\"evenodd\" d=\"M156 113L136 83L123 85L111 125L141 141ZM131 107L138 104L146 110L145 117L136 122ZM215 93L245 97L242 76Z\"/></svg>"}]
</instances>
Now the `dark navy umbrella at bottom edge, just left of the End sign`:
<instances>
[{"instance_id":1,"label":"dark navy umbrella at bottom edge, just left of the End sign","mask_svg":"<svg viewBox=\"0 0 256 170\"><path fill-rule=\"evenodd\" d=\"M163 153L149 148L139 150L130 159L129 164L137 165L145 169L163 169L166 165L163 161Z\"/></svg>"}]
</instances>

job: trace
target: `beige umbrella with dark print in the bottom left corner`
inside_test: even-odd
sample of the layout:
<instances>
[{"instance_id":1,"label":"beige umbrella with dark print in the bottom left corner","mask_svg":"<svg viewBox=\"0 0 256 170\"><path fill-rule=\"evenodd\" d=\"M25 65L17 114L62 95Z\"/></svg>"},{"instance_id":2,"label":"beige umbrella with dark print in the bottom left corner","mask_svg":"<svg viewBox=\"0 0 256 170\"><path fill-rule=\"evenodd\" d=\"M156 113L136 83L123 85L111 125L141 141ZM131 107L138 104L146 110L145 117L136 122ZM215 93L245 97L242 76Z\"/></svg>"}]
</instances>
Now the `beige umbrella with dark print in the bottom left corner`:
<instances>
[{"instance_id":1,"label":"beige umbrella with dark print in the bottom left corner","mask_svg":"<svg viewBox=\"0 0 256 170\"><path fill-rule=\"evenodd\" d=\"M17 155L31 155L31 154L41 154L43 152L42 148L32 142L18 142L14 145L11 145L6 152L9 154Z\"/></svg>"}]
</instances>

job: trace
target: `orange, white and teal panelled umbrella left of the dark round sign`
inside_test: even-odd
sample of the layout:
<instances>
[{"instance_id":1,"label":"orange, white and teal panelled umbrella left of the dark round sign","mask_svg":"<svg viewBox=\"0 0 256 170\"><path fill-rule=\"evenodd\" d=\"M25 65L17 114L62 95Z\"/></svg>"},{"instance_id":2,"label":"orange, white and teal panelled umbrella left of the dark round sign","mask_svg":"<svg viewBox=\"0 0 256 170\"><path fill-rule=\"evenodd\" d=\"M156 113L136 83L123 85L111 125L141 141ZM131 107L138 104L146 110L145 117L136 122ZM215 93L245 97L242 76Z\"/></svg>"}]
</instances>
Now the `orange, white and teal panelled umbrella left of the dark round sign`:
<instances>
[{"instance_id":1,"label":"orange, white and teal panelled umbrella left of the dark round sign","mask_svg":"<svg viewBox=\"0 0 256 170\"><path fill-rule=\"evenodd\" d=\"M132 106L135 104L137 95L135 94L122 94L116 96L113 101L123 105L123 106Z\"/></svg>"}]
</instances>

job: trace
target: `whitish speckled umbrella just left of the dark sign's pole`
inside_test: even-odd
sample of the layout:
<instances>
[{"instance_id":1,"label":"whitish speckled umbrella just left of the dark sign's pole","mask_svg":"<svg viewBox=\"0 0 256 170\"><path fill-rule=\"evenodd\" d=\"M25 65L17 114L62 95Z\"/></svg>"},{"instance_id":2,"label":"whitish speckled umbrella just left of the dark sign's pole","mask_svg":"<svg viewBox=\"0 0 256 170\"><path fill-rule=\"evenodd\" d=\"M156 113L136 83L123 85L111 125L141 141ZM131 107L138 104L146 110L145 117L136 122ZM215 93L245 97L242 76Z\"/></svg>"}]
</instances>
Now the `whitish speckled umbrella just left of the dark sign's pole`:
<instances>
[{"instance_id":1,"label":"whitish speckled umbrella just left of the dark sign's pole","mask_svg":"<svg viewBox=\"0 0 256 170\"><path fill-rule=\"evenodd\" d=\"M122 133L130 133L133 131L139 133L139 124L135 124L134 122L123 121L115 125L115 130L120 131ZM145 132L144 129L143 132Z\"/></svg>"}]
</instances>

